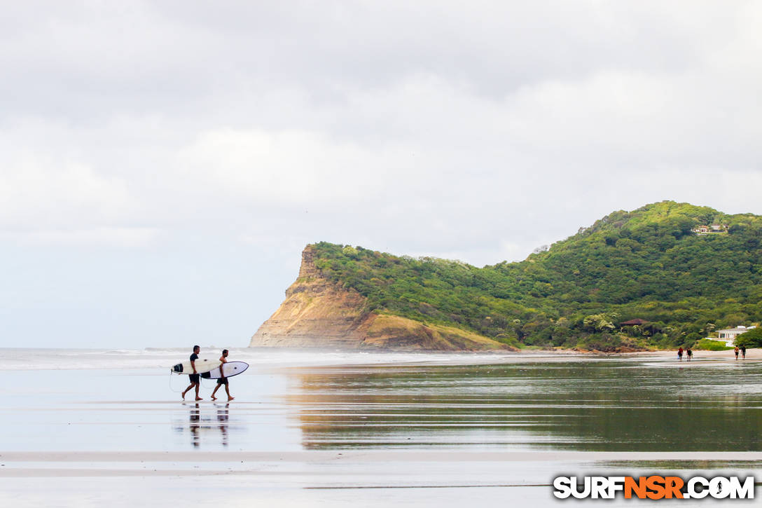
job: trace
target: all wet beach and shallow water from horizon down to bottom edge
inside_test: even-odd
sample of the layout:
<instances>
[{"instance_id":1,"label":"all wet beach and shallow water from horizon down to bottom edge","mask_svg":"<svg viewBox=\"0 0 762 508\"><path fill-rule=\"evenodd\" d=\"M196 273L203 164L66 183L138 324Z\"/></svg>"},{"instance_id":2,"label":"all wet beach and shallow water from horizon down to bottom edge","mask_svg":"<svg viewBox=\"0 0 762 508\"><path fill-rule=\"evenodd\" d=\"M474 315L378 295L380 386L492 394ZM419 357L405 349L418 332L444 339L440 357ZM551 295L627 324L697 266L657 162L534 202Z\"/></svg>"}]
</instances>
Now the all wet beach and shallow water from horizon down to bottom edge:
<instances>
[{"instance_id":1,"label":"all wet beach and shallow water from horizon down to bottom edge","mask_svg":"<svg viewBox=\"0 0 762 508\"><path fill-rule=\"evenodd\" d=\"M168 373L184 350L0 353L10 371L0 387L0 501L17 506L40 501L29 487L41 476L69 493L57 498L62 506L86 505L78 484L93 504L126 506L120 500L170 500L188 486L238 492L242 481L274 503L456 506L480 487L497 506L514 496L555 504L548 484L563 472L760 465L754 359L243 349L231 358L251 368L230 378L235 400L220 390L210 401L215 384L203 380L196 404L192 394L180 400L187 377ZM37 370L24 368L35 358ZM213 481L198 481L203 474ZM130 488L136 481L152 487ZM114 488L130 495L114 497Z\"/></svg>"}]
</instances>

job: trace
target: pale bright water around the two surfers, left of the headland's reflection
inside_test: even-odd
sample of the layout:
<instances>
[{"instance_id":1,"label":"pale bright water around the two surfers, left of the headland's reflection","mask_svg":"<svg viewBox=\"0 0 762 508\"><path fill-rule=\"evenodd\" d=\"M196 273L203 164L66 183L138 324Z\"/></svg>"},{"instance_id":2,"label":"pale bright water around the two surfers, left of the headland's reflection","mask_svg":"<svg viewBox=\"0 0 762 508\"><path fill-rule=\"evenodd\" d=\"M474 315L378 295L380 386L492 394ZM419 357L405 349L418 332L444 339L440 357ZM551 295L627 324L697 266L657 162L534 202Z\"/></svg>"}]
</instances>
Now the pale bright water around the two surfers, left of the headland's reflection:
<instances>
[{"instance_id":1,"label":"pale bright water around the two surfers, left of the headland's reflection","mask_svg":"<svg viewBox=\"0 0 762 508\"><path fill-rule=\"evenodd\" d=\"M11 373L0 384L0 414L9 431L0 434L0 450L309 449L319 439L306 439L312 429L303 421L312 413L307 408L335 404L320 402L322 395L305 400L312 390L303 384L315 372L338 368L341 376L355 379L357 372L381 366L479 365L509 357L232 349L229 358L250 367L229 380L231 406L224 404L222 388L219 399L210 400L216 381L205 379L205 400L196 404L191 392L181 401L188 378L170 367L189 355L187 349L0 349L0 370ZM517 362L529 359L512 356ZM203 348L200 354L218 357L219 349ZM347 384L347 395L353 387Z\"/></svg>"}]
</instances>

